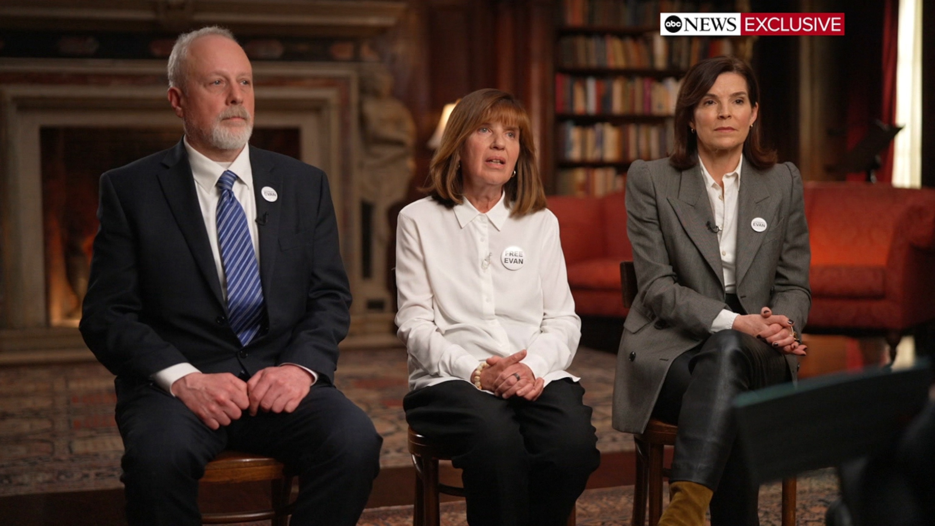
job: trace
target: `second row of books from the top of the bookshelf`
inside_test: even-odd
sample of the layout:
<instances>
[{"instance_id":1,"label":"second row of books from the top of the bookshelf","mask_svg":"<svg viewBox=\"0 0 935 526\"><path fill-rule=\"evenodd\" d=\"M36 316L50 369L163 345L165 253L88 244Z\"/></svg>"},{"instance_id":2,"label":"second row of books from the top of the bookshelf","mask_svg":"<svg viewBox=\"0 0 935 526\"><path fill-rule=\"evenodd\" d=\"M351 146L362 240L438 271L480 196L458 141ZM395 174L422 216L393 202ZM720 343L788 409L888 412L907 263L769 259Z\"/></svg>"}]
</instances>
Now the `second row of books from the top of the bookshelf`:
<instances>
[{"instance_id":1,"label":"second row of books from the top of the bookshelf","mask_svg":"<svg viewBox=\"0 0 935 526\"><path fill-rule=\"evenodd\" d=\"M698 61L733 54L730 38L574 35L558 39L560 67L688 69Z\"/></svg>"}]
</instances>

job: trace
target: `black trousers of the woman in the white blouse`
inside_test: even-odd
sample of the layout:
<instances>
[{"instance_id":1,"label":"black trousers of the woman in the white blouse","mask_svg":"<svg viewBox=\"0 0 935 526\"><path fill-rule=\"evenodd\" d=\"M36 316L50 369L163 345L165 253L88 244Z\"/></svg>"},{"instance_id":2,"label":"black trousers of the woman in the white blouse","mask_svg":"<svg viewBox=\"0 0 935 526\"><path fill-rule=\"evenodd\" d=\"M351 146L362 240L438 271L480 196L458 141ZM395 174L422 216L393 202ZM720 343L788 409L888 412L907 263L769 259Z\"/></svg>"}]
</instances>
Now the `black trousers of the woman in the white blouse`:
<instances>
[{"instance_id":1,"label":"black trousers of the woman in the white blouse","mask_svg":"<svg viewBox=\"0 0 935 526\"><path fill-rule=\"evenodd\" d=\"M403 406L410 427L464 470L468 524L559 526L600 463L583 394L562 379L536 402L504 400L453 380L410 392Z\"/></svg>"}]
</instances>

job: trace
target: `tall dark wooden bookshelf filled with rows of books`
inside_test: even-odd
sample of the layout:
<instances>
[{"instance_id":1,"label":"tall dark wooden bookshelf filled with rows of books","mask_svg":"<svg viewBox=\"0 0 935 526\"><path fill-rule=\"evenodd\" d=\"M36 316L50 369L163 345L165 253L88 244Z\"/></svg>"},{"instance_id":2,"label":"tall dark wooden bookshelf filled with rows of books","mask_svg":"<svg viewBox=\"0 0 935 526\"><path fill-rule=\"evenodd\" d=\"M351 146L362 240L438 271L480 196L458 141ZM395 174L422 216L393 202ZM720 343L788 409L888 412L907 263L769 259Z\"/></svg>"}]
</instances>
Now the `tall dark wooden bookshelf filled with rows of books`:
<instances>
[{"instance_id":1,"label":"tall dark wooden bookshelf filled with rows of books","mask_svg":"<svg viewBox=\"0 0 935 526\"><path fill-rule=\"evenodd\" d=\"M636 159L672 146L685 71L733 54L727 37L662 37L659 13L731 11L734 2L561 0L554 25L554 193L623 189Z\"/></svg>"}]
</instances>

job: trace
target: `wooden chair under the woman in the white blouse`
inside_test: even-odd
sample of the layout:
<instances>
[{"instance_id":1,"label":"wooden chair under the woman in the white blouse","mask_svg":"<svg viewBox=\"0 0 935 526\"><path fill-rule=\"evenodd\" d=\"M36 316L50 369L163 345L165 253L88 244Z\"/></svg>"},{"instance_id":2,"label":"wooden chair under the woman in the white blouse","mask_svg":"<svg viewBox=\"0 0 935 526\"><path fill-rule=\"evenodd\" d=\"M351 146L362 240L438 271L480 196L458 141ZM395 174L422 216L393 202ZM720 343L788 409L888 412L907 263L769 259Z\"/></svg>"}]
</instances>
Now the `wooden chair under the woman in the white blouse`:
<instances>
[{"instance_id":1,"label":"wooden chair under the woman in the white blouse","mask_svg":"<svg viewBox=\"0 0 935 526\"><path fill-rule=\"evenodd\" d=\"M439 526L439 493L465 496L464 488L439 484L439 460L451 460L421 434L409 431L409 450L415 465L415 505L412 526ZM575 509L568 516L568 526L575 526Z\"/></svg>"}]
</instances>

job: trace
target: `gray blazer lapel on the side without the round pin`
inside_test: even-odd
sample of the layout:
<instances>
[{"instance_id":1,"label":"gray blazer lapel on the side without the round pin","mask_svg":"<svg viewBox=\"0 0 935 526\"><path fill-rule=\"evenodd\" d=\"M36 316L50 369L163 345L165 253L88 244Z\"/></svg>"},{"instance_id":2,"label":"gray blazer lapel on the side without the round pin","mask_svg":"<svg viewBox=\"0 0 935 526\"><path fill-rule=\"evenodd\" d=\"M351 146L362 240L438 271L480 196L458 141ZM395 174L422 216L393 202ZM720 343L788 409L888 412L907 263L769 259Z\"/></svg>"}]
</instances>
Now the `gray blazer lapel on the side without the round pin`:
<instances>
[{"instance_id":1,"label":"gray blazer lapel on the side without the round pin","mask_svg":"<svg viewBox=\"0 0 935 526\"><path fill-rule=\"evenodd\" d=\"M717 242L717 234L708 228L708 225L714 224L714 214L701 183L701 170L698 166L683 170L679 198L669 197L669 205L679 217L688 238L695 243L698 252L714 270L721 286L724 286L724 268L721 266L721 249Z\"/></svg>"}]
</instances>

